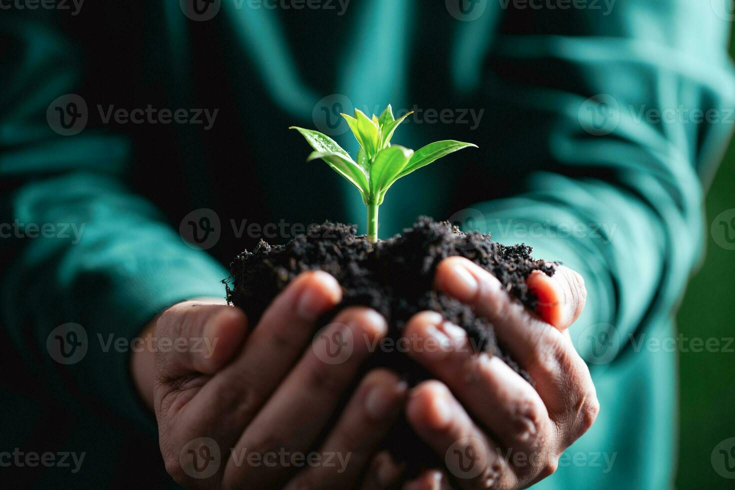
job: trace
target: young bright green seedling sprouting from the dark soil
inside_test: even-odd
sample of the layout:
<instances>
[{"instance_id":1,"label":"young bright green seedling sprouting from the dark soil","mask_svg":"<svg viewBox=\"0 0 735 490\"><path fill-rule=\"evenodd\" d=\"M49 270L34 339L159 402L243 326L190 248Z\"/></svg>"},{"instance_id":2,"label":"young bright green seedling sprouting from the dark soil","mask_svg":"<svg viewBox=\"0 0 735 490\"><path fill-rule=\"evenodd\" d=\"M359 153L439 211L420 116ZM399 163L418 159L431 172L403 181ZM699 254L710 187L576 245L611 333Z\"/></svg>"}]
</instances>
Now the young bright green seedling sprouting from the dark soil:
<instances>
[{"instance_id":1,"label":"young bright green seedling sprouting from the dark soil","mask_svg":"<svg viewBox=\"0 0 735 490\"><path fill-rule=\"evenodd\" d=\"M477 148L477 145L472 143L454 140L437 141L417 151L391 145L390 139L395 129L411 114L412 112L409 112L401 118L394 119L390 104L379 118L373 114L373 118L370 119L359 109L355 109L354 118L343 114L342 117L347 120L357 143L360 144L357 162L326 134L296 126L290 128L298 130L314 148L306 159L307 162L323 159L360 191L362 202L368 206L370 242L378 240L378 207L383 203L385 192L393 182L454 151L467 146Z\"/></svg>"}]
</instances>

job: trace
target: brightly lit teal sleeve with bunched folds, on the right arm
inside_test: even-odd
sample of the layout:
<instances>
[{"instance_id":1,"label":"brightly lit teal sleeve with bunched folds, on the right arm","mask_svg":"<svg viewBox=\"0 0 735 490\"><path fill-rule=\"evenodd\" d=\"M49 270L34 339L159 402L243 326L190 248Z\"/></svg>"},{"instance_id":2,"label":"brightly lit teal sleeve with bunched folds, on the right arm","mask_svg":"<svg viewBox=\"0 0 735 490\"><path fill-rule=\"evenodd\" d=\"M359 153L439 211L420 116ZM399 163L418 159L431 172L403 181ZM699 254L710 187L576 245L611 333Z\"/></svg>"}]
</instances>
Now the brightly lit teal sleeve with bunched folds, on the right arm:
<instances>
[{"instance_id":1,"label":"brightly lit teal sleeve with bunched folds, on the right arm","mask_svg":"<svg viewBox=\"0 0 735 490\"><path fill-rule=\"evenodd\" d=\"M487 85L512 140L492 165L528 177L479 207L499 241L583 273L587 321L628 334L670 313L702 250L703 185L735 122L730 23L709 2L597 4L501 22Z\"/></svg>"}]
</instances>

